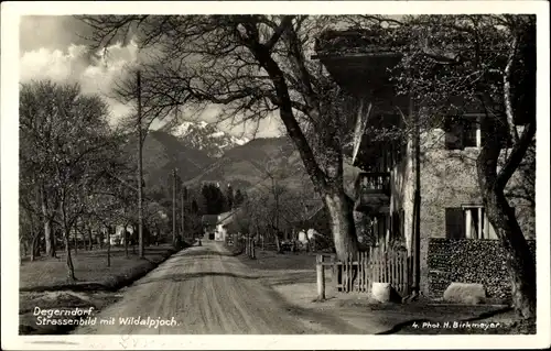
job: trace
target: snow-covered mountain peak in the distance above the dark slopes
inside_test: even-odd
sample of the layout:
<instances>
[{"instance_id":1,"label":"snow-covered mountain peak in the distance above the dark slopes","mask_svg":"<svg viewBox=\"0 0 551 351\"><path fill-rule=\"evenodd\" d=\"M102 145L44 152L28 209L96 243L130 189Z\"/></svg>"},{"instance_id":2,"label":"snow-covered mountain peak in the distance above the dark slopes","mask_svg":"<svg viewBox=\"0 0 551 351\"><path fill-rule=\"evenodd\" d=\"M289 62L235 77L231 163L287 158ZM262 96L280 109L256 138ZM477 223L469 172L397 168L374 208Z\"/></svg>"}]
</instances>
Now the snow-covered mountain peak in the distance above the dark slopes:
<instances>
[{"instance_id":1,"label":"snow-covered mountain peak in the distance above the dark slopes","mask_svg":"<svg viewBox=\"0 0 551 351\"><path fill-rule=\"evenodd\" d=\"M247 138L230 135L220 131L215 124L205 121L183 122L173 130L172 134L179 138L184 145L202 150L210 157L220 157L227 150L249 142Z\"/></svg>"}]
</instances>

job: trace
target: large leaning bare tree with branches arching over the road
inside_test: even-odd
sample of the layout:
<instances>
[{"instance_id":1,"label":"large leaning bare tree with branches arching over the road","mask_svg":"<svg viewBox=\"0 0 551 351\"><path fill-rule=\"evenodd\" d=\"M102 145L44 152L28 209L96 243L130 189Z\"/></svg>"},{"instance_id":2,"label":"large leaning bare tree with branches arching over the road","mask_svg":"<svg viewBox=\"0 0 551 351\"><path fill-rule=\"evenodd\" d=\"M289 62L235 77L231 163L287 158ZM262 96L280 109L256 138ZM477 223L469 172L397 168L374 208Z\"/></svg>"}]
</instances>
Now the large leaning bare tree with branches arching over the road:
<instances>
[{"instance_id":1,"label":"large leaning bare tree with branches arching over the road","mask_svg":"<svg viewBox=\"0 0 551 351\"><path fill-rule=\"evenodd\" d=\"M325 17L173 15L85 17L97 48L132 31L149 47L143 64L144 106L173 110L190 99L216 103L222 117L252 121L279 111L305 169L322 195L337 254L358 250L353 202L343 188L343 128L327 108L335 94L321 67L309 61L314 35L331 25ZM337 91L338 92L338 91ZM309 140L316 135L318 144Z\"/></svg>"}]
</instances>

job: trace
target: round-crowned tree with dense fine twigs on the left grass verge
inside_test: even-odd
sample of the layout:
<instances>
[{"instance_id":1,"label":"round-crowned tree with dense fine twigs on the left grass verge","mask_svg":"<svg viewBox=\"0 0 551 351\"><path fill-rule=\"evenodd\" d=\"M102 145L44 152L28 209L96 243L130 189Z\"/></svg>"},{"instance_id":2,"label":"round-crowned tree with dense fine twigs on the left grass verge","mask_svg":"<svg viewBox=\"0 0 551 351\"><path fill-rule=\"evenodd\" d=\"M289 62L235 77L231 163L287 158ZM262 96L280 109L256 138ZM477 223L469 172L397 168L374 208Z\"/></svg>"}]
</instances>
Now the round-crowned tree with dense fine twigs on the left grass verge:
<instances>
[{"instance_id":1,"label":"round-crowned tree with dense fine twigs on the left grass verge","mask_svg":"<svg viewBox=\"0 0 551 351\"><path fill-rule=\"evenodd\" d=\"M107 105L98 97L80 95L78 86L51 81L24 84L20 94L22 143L35 145L43 158L31 158L24 165L25 176L40 175L45 199L52 194L55 211L44 219L60 223L66 246L67 277L75 281L69 233L85 212L85 197L105 164L102 150L110 140ZM29 143L29 144L26 144ZM44 206L44 202L43 202ZM47 238L46 238L47 242Z\"/></svg>"}]
</instances>

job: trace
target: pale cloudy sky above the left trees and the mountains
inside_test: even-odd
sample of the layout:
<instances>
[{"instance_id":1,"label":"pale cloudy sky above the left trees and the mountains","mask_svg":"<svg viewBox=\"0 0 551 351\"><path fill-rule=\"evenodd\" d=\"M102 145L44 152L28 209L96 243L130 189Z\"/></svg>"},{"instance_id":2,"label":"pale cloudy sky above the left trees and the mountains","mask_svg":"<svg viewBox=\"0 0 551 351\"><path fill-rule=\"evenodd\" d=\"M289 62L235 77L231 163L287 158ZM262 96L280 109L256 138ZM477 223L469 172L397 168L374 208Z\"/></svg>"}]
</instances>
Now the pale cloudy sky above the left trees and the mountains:
<instances>
[{"instance_id":1,"label":"pale cloudy sky above the left trees and the mountains","mask_svg":"<svg viewBox=\"0 0 551 351\"><path fill-rule=\"evenodd\" d=\"M136 43L120 43L109 48L108 61L88 54L86 24L68 15L26 15L20 22L20 81L52 79L58 83L79 83L84 94L100 94L111 109L111 122L133 110L112 98L111 89L121 78L125 65L137 58ZM208 108L198 119L206 122L218 120L218 108ZM154 123L159 128L162 122ZM251 138L257 125L231 125L229 121L218 123L218 128L238 138ZM281 122L276 114L260 122L257 138L277 136Z\"/></svg>"}]
</instances>

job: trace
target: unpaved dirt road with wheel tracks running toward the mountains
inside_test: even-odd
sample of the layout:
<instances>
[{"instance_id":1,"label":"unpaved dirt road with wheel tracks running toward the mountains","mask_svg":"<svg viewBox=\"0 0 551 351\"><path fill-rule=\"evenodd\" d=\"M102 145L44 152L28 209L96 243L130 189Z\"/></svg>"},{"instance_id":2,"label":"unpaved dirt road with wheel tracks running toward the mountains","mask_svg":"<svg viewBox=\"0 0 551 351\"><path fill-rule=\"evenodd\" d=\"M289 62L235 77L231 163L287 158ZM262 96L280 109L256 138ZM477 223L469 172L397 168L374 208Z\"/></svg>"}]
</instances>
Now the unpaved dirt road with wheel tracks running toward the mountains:
<instances>
[{"instance_id":1,"label":"unpaved dirt road with wheel tracks running toward the mountains","mask_svg":"<svg viewBox=\"0 0 551 351\"><path fill-rule=\"evenodd\" d=\"M136 282L120 301L98 315L95 326L80 327L74 333L359 332L333 314L312 314L285 304L222 243L204 241L203 246L175 254ZM133 323L125 319L131 317ZM169 325L156 326L155 320Z\"/></svg>"}]
</instances>

